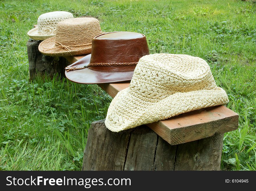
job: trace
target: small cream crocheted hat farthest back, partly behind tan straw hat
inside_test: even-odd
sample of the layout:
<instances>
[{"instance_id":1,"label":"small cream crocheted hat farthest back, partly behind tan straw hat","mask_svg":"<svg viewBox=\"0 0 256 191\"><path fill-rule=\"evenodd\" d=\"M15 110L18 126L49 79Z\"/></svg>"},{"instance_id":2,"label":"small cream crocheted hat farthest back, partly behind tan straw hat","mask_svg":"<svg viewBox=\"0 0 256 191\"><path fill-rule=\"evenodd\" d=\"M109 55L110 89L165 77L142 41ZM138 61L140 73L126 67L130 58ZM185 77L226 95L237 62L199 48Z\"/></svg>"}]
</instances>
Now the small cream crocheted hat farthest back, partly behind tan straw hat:
<instances>
[{"instance_id":1,"label":"small cream crocheted hat farthest back, partly behind tan straw hat","mask_svg":"<svg viewBox=\"0 0 256 191\"><path fill-rule=\"evenodd\" d=\"M56 26L58 22L65 19L73 18L72 13L65 11L54 11L42 14L38 17L38 27L32 28L28 35L34 40L45 40L55 36Z\"/></svg>"}]
</instances>

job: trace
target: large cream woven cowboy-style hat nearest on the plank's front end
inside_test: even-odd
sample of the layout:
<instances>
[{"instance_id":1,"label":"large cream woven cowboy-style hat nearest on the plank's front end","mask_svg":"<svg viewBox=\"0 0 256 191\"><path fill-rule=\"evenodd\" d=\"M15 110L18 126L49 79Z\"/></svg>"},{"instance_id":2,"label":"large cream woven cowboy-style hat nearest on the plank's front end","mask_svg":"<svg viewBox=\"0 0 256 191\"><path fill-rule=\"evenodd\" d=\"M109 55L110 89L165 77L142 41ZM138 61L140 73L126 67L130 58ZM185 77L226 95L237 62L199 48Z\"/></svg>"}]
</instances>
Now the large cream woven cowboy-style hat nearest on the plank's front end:
<instances>
[{"instance_id":1,"label":"large cream woven cowboy-style hat nearest on the plank's front end","mask_svg":"<svg viewBox=\"0 0 256 191\"><path fill-rule=\"evenodd\" d=\"M202 58L151 54L140 58L129 87L112 100L105 124L118 132L227 102Z\"/></svg>"}]
</instances>

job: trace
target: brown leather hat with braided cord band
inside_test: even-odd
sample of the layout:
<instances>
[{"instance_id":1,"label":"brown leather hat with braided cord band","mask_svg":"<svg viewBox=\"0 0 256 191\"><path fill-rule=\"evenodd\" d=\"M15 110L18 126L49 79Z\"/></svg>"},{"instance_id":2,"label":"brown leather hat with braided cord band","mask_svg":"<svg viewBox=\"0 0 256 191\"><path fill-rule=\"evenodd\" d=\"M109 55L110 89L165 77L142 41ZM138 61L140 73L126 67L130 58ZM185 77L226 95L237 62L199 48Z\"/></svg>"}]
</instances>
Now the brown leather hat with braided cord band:
<instances>
[{"instance_id":1,"label":"brown leather hat with braided cord band","mask_svg":"<svg viewBox=\"0 0 256 191\"><path fill-rule=\"evenodd\" d=\"M103 33L93 38L92 53L66 67L65 75L83 84L129 81L139 59L148 54L141 33Z\"/></svg>"}]
</instances>

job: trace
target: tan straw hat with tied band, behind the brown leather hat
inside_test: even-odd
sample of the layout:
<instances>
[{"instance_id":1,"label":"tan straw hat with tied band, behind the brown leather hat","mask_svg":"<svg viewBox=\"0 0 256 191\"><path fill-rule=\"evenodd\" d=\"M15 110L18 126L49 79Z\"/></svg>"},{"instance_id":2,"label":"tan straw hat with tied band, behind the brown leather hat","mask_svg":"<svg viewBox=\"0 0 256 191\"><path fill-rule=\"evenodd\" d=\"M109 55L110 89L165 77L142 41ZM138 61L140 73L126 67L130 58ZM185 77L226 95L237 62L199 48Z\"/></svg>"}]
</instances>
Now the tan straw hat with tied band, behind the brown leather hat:
<instances>
[{"instance_id":1,"label":"tan straw hat with tied band, behind the brown leather hat","mask_svg":"<svg viewBox=\"0 0 256 191\"><path fill-rule=\"evenodd\" d=\"M93 37L101 34L98 19L79 17L57 24L55 37L39 44L39 51L48 56L74 56L91 53Z\"/></svg>"}]
</instances>

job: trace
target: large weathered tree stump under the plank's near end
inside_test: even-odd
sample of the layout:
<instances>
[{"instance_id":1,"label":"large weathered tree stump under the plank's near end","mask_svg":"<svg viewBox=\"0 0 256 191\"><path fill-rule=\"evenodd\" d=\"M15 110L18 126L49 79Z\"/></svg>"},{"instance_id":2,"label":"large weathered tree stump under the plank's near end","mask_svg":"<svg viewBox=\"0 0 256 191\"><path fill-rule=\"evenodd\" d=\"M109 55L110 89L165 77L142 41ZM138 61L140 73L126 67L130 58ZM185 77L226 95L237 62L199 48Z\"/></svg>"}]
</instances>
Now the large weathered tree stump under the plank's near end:
<instances>
[{"instance_id":1,"label":"large weathered tree stump under the plank's near end","mask_svg":"<svg viewBox=\"0 0 256 191\"><path fill-rule=\"evenodd\" d=\"M223 133L170 145L145 125L118 133L104 120L88 131L82 170L220 170Z\"/></svg>"}]
</instances>

